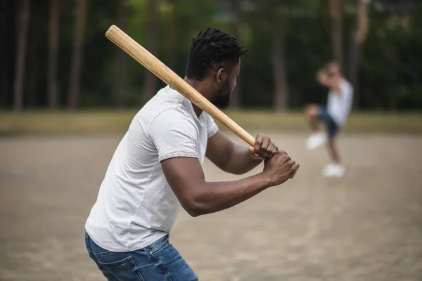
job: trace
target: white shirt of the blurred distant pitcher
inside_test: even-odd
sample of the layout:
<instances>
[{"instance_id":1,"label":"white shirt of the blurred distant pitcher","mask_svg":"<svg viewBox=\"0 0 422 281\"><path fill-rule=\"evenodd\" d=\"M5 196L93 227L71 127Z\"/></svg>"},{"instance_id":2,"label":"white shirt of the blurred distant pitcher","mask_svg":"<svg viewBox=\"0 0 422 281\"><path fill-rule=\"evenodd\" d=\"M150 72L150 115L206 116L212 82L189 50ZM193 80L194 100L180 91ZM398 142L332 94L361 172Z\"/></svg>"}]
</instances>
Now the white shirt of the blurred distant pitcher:
<instances>
[{"instance_id":1,"label":"white shirt of the blurred distant pitcher","mask_svg":"<svg viewBox=\"0 0 422 281\"><path fill-rule=\"evenodd\" d=\"M333 89L328 91L328 114L338 125L343 126L345 124L352 109L352 100L353 87L344 78L340 81L340 94L335 93Z\"/></svg>"}]
</instances>

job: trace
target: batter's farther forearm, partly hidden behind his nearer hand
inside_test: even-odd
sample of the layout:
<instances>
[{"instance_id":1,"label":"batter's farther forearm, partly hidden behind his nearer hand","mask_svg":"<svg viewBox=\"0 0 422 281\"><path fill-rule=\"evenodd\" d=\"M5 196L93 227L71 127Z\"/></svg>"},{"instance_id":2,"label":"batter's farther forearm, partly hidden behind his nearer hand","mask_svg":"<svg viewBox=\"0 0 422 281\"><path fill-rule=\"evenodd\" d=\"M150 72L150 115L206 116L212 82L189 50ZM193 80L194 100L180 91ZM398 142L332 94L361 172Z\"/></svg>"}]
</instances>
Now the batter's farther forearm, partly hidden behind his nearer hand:
<instances>
[{"instance_id":1,"label":"batter's farther forearm, partly hidden behind his nearer hand","mask_svg":"<svg viewBox=\"0 0 422 281\"><path fill-rule=\"evenodd\" d=\"M248 173L248 171L261 163L262 160L250 157L248 148L234 144L225 171L231 174L241 175Z\"/></svg>"}]
</instances>

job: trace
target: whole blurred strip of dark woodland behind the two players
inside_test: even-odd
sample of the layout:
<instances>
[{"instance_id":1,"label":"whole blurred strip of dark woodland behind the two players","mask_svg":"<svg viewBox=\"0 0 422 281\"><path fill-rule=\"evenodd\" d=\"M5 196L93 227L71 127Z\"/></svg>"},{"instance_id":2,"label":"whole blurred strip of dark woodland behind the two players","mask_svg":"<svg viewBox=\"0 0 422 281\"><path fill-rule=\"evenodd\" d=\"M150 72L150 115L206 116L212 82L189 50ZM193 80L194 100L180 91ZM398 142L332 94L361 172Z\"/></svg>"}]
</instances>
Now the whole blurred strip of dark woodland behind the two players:
<instances>
[{"instance_id":1,"label":"whole blurred strip of dark woodland behind the two players","mask_svg":"<svg viewBox=\"0 0 422 281\"><path fill-rule=\"evenodd\" d=\"M357 110L421 110L422 3L393 0L2 0L0 108L141 107L164 83L105 37L117 25L184 77L191 39L217 27L250 49L232 105L326 102L338 60Z\"/></svg>"}]
</instances>

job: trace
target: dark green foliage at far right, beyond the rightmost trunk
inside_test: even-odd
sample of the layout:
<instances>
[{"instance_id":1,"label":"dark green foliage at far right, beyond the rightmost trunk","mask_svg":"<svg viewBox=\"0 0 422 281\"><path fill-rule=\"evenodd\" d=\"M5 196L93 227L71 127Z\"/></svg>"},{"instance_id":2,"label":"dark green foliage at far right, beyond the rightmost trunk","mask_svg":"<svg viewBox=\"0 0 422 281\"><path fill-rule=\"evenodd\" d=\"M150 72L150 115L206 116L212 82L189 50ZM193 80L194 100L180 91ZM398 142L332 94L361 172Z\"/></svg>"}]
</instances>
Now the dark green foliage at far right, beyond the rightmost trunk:
<instances>
[{"instance_id":1,"label":"dark green foliage at far right, beyond the rightmost trunk","mask_svg":"<svg viewBox=\"0 0 422 281\"><path fill-rule=\"evenodd\" d=\"M357 94L361 107L421 109L421 12L417 6L395 20L372 8L371 31L360 63Z\"/></svg>"}]
</instances>

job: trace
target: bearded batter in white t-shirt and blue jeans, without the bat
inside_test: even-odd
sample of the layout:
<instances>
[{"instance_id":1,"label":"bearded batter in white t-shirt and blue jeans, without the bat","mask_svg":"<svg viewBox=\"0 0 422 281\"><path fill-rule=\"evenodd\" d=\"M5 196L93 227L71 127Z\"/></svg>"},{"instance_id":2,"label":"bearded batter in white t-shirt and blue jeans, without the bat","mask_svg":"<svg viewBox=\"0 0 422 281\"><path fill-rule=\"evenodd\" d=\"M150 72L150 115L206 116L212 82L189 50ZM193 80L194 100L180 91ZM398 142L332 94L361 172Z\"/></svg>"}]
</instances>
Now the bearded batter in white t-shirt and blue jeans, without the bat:
<instances>
[{"instance_id":1,"label":"bearded batter in white t-shirt and blue jeans, without the bat","mask_svg":"<svg viewBox=\"0 0 422 281\"><path fill-rule=\"evenodd\" d=\"M229 103L245 49L215 29L193 39L185 81L219 107ZM239 181L207 182L207 157ZM295 176L299 165L259 134L255 147L230 141L214 120L170 86L135 115L110 161L85 224L89 256L108 280L198 277L169 242L180 207L200 216L233 207Z\"/></svg>"}]
</instances>

